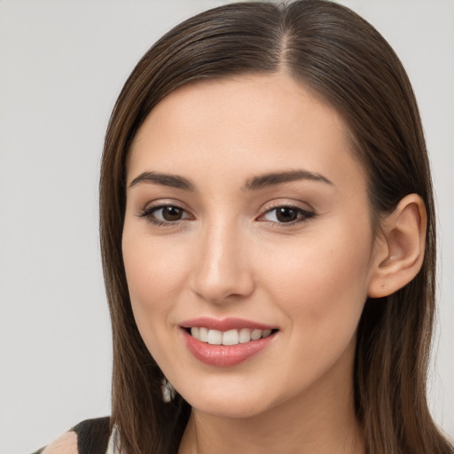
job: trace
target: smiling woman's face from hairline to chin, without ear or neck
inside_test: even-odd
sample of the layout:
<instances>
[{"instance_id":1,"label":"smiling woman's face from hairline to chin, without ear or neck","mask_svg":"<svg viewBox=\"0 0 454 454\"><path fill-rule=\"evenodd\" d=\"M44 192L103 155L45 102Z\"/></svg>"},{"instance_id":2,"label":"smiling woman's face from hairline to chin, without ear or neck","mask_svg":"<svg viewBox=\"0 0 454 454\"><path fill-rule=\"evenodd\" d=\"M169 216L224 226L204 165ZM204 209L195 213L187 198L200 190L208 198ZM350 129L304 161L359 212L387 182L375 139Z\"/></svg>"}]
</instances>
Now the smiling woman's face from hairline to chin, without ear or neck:
<instances>
[{"instance_id":1,"label":"smiling woman's face from hairline to chin, without ear or neck","mask_svg":"<svg viewBox=\"0 0 454 454\"><path fill-rule=\"evenodd\" d=\"M333 108L282 74L185 85L137 132L127 179L134 316L194 409L250 417L351 387L373 238Z\"/></svg>"}]
</instances>

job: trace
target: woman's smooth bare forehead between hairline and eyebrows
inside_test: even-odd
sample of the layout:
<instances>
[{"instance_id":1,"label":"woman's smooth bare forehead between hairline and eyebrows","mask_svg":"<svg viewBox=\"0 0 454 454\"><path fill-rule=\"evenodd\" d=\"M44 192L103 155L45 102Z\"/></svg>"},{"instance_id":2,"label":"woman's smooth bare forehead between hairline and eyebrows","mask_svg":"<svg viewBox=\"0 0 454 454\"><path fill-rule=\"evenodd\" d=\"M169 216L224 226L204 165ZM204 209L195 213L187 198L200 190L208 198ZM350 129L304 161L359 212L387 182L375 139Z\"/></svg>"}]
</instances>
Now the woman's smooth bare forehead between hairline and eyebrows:
<instances>
[{"instance_id":1,"label":"woman's smooth bare forehead between hairline and eyebrows","mask_svg":"<svg viewBox=\"0 0 454 454\"><path fill-rule=\"evenodd\" d=\"M285 74L192 82L154 107L130 148L128 178L145 170L194 176L307 168L362 176L333 107Z\"/></svg>"}]
</instances>

